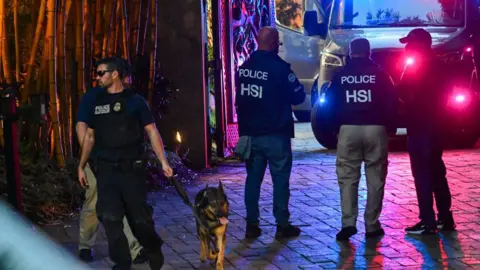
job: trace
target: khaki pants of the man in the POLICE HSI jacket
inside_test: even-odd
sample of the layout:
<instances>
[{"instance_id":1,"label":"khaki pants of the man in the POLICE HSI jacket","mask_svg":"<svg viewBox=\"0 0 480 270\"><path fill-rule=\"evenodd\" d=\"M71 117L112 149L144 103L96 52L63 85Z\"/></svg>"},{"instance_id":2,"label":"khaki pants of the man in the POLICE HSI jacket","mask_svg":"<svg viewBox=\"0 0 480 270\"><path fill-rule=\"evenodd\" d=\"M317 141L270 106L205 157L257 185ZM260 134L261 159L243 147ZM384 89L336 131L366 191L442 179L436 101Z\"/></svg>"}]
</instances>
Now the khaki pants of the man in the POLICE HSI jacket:
<instances>
[{"instance_id":1,"label":"khaki pants of the man in the POLICE HSI jacket","mask_svg":"<svg viewBox=\"0 0 480 270\"><path fill-rule=\"evenodd\" d=\"M365 162L367 232L381 228L385 179L388 168L388 135L383 126L350 126L340 128L337 145L337 176L340 185L342 228L356 227L358 217L358 185L361 165Z\"/></svg>"}]
</instances>

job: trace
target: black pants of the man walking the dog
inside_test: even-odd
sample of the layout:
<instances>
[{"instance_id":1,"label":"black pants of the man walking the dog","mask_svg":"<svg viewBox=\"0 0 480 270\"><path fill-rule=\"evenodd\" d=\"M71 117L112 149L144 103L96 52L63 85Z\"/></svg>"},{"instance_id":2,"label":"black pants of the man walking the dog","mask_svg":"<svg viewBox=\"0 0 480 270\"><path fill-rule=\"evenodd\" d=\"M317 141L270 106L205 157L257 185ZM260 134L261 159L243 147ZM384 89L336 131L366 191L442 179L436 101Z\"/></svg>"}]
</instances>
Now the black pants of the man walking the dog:
<instances>
[{"instance_id":1,"label":"black pants of the man walking the dog","mask_svg":"<svg viewBox=\"0 0 480 270\"><path fill-rule=\"evenodd\" d=\"M151 253L163 256L162 239L156 233L152 207L147 204L146 171L143 162L98 162L97 215L105 227L110 258L120 269L130 269L132 258L123 233L126 216L133 235Z\"/></svg>"}]
</instances>

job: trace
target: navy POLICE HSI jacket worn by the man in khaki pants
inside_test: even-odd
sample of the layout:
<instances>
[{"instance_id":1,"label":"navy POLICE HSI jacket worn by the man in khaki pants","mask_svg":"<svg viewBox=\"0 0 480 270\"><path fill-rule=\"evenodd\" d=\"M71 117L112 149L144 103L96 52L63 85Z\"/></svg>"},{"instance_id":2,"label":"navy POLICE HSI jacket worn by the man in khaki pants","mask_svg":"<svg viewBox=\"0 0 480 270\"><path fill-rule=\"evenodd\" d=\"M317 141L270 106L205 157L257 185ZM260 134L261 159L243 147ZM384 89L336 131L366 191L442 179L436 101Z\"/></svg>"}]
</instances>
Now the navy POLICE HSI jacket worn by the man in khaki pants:
<instances>
[{"instance_id":1,"label":"navy POLICE HSI jacket worn by the man in khaki pants","mask_svg":"<svg viewBox=\"0 0 480 270\"><path fill-rule=\"evenodd\" d=\"M341 125L396 129L398 96L391 77L369 58L352 58L332 79L326 102Z\"/></svg>"}]
</instances>

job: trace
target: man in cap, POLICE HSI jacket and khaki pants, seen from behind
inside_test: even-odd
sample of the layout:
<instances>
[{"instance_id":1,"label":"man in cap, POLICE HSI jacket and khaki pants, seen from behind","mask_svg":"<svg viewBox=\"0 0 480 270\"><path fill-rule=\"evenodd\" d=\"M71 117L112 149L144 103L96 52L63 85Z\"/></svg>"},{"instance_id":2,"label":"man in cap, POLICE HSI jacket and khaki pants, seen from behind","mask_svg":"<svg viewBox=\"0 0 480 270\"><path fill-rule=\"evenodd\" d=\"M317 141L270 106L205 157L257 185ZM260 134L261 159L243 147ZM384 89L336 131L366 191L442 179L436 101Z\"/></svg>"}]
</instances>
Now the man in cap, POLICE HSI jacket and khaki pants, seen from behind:
<instances>
[{"instance_id":1,"label":"man in cap, POLICE HSI jacket and khaki pants, seen from behind","mask_svg":"<svg viewBox=\"0 0 480 270\"><path fill-rule=\"evenodd\" d=\"M350 43L351 60L333 78L326 103L340 127L337 176L340 185L342 230L337 240L357 233L358 185L365 162L367 206L366 237L385 234L379 222L388 167L387 131L395 130L398 102L390 76L370 59L365 38Z\"/></svg>"}]
</instances>

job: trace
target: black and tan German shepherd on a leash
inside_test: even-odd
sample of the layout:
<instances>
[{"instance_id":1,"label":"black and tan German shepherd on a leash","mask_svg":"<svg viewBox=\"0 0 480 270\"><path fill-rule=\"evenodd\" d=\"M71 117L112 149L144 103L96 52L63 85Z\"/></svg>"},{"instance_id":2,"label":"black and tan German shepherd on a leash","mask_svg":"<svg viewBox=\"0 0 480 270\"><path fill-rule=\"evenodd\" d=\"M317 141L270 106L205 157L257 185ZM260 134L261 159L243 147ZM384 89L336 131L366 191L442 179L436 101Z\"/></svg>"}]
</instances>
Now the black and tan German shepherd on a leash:
<instances>
[{"instance_id":1,"label":"black and tan German shepherd on a leash","mask_svg":"<svg viewBox=\"0 0 480 270\"><path fill-rule=\"evenodd\" d=\"M221 181L218 188L208 187L207 185L195 196L200 260L202 262L205 262L207 258L216 260L217 270L223 269L229 209L230 203ZM213 242L212 247L210 246L211 241Z\"/></svg>"}]
</instances>

